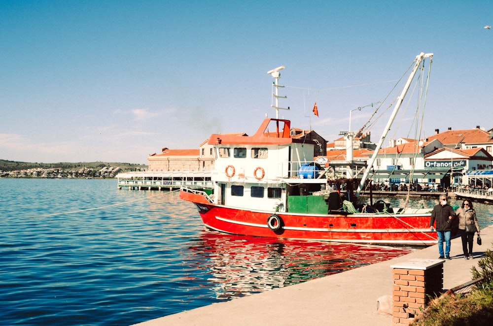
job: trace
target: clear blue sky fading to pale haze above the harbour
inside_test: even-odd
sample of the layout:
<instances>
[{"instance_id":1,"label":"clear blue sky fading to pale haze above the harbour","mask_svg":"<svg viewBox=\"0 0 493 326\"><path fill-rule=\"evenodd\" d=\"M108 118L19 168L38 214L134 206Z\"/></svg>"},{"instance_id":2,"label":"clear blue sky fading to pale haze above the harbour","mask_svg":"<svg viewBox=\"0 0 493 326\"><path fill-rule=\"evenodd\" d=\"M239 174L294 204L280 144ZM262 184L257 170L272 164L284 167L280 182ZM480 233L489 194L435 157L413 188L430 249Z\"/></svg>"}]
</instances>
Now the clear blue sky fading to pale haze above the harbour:
<instances>
[{"instance_id":1,"label":"clear blue sky fading to pale haze above the harbour","mask_svg":"<svg viewBox=\"0 0 493 326\"><path fill-rule=\"evenodd\" d=\"M275 117L267 71L281 65L280 116L333 141L421 52L434 53L423 134L489 130L486 25L493 1L0 0L0 159L146 164L251 135ZM389 135L413 138L407 121Z\"/></svg>"}]
</instances>

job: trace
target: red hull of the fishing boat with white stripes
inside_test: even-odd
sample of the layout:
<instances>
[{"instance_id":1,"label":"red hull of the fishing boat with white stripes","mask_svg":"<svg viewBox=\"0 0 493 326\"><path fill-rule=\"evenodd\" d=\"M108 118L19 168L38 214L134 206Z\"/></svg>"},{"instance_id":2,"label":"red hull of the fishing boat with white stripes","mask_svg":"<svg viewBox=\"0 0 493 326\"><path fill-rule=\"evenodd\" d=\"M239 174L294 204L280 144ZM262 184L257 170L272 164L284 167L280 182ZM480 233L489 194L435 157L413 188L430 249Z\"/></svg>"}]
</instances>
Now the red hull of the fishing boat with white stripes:
<instances>
[{"instance_id":1,"label":"red hull of the fishing boat with white stripes","mask_svg":"<svg viewBox=\"0 0 493 326\"><path fill-rule=\"evenodd\" d=\"M436 233L429 229L429 214L349 214L315 215L278 212L282 227L273 231L267 225L272 213L228 208L210 203L204 196L180 192L180 198L193 202L206 227L221 232L289 239L321 241L433 245Z\"/></svg>"}]
</instances>

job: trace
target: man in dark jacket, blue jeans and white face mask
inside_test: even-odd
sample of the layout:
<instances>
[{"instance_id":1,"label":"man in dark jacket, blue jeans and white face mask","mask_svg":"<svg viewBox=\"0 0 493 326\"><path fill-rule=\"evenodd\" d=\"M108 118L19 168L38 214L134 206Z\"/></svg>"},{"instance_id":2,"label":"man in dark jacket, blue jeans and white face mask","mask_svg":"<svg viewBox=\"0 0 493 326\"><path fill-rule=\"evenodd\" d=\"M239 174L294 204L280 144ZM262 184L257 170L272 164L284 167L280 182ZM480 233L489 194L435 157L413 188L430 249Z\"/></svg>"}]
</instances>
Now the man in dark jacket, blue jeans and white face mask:
<instances>
[{"instance_id":1,"label":"man in dark jacket, blue jeans and white face mask","mask_svg":"<svg viewBox=\"0 0 493 326\"><path fill-rule=\"evenodd\" d=\"M447 204L447 196L440 195L440 203L433 207L430 218L430 228L433 231L433 224L436 222L436 235L438 237L438 259L450 259L450 236L452 231L452 221L456 218L456 213L452 206ZM443 241L445 241L445 255L443 252Z\"/></svg>"}]
</instances>

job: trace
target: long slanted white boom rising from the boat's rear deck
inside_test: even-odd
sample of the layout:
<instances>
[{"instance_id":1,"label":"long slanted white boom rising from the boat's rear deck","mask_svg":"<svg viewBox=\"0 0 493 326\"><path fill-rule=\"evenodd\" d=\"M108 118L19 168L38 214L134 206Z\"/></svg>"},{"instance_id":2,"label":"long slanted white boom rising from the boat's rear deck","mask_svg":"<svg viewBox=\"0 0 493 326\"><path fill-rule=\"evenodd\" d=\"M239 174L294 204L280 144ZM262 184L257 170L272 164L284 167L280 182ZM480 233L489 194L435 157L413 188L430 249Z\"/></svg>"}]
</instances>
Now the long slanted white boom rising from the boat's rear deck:
<instances>
[{"instance_id":1,"label":"long slanted white boom rising from the boat's rear deck","mask_svg":"<svg viewBox=\"0 0 493 326\"><path fill-rule=\"evenodd\" d=\"M399 111L399 108L402 104L402 101L404 100L404 97L406 96L407 91L409 90L409 86L411 86L411 82L413 81L413 78L416 75L416 71L418 71L418 68L421 65L421 62L425 58L431 58L431 57L433 57L433 53L424 54L422 52L418 56L416 56L416 59L415 59L416 65L414 65L413 71L411 71L411 74L409 75L409 78L407 79L407 82L404 85L404 89L402 90L401 95L396 100L395 108L392 111L392 114L390 115L390 119L387 122L387 126L385 127L384 132L382 133L382 137L380 137L380 141L377 144L377 148L375 149L375 152L373 152L373 155L370 159L370 162L368 163L368 166L366 167L365 173L363 174L363 177L361 178L361 183L358 186L358 190L356 192L356 197L359 196L359 194L363 190L363 187L366 183L366 178L368 178L368 174L370 174L370 170L373 167L373 163L375 163L378 152L382 148L382 144L385 140L385 137L387 136L388 131L390 131L390 126L392 125L392 123L395 119L395 116L397 115L397 112Z\"/></svg>"}]
</instances>

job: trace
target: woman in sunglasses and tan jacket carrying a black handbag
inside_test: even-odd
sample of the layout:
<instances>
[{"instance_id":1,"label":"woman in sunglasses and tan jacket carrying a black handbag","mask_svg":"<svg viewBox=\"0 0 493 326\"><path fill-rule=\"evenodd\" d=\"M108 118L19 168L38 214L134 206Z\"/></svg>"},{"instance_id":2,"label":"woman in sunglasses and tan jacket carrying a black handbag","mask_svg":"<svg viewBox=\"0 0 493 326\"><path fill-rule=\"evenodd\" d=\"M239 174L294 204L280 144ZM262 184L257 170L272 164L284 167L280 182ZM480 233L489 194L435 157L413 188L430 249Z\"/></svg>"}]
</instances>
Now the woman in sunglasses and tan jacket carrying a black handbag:
<instances>
[{"instance_id":1,"label":"woman in sunglasses and tan jacket carrying a black handbag","mask_svg":"<svg viewBox=\"0 0 493 326\"><path fill-rule=\"evenodd\" d=\"M479 235L479 224L476 218L476 211L472 208L472 201L465 199L457 210L459 218L459 234L462 239L462 252L464 259L473 259L472 245L474 242L474 232Z\"/></svg>"}]
</instances>

